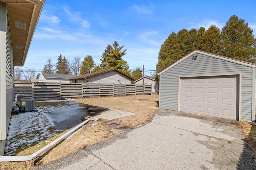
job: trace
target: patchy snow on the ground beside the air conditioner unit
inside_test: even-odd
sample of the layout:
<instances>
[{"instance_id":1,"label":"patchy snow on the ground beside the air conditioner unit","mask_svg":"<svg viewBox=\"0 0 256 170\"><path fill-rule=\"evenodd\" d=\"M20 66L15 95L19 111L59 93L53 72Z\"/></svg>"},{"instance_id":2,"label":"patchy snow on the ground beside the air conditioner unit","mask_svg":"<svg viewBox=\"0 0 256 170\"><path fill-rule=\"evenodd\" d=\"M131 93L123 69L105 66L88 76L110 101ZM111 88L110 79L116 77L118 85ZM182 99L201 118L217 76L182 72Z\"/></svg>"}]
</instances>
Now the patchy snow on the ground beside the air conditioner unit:
<instances>
[{"instance_id":1,"label":"patchy snow on the ground beside the air conditioner unit","mask_svg":"<svg viewBox=\"0 0 256 170\"><path fill-rule=\"evenodd\" d=\"M64 100L60 101L64 102ZM58 135L60 131L54 129L53 121L55 119L49 117L47 113L65 110L66 115L68 115L69 109L80 108L77 102L72 100L65 101L63 105L37 107L37 112L12 115L6 140L5 155L14 155L17 150L24 150ZM69 106L64 106L65 104Z\"/></svg>"}]
</instances>

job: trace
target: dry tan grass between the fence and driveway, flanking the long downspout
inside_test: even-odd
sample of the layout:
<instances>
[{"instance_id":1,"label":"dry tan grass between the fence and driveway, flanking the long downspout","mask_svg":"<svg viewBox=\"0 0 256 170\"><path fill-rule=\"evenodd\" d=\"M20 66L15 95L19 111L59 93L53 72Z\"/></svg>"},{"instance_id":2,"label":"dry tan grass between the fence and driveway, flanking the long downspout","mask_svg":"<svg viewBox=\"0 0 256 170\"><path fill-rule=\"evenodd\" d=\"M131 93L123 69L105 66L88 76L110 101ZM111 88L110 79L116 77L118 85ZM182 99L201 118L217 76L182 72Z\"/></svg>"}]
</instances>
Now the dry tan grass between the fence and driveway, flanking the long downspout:
<instances>
[{"instance_id":1,"label":"dry tan grass between the fence and driveway, flanking the long downspout","mask_svg":"<svg viewBox=\"0 0 256 170\"><path fill-rule=\"evenodd\" d=\"M120 109L123 111L129 111L132 113L136 113L136 115L121 117L119 119L115 119L118 123L122 124L123 127L120 129L115 125L108 125L106 122L108 120L101 119L97 121L97 125L92 127L91 125L95 122L90 121L87 123L80 131L78 131L73 137L70 139L66 139L62 141L60 144L56 145L54 148L44 153L42 157L44 159L40 162L40 164L45 164L56 160L58 158L62 158L72 152L76 152L77 150L84 148L88 145L92 145L94 143L98 143L100 141L104 141L115 135L122 133L122 129L130 128L134 129L140 125L144 125L150 121L154 113L159 109L158 102L158 94L155 95L138 95L138 96L120 96L120 97L103 97L103 98L85 98L85 99L76 99L76 102L89 104L93 106L99 107L108 107L113 109ZM143 100L139 100L143 99ZM64 132L65 133L65 132ZM62 135L61 133L60 135ZM58 136L60 136L58 135ZM56 139L58 136L49 139L48 143ZM18 155L29 155L37 150L41 149L48 143L42 142L38 145L25 149L24 151L18 153ZM38 147L39 146L39 147ZM6 169L17 169L17 170L27 170L33 168L32 166L26 166L25 162L1 162L1 170Z\"/></svg>"}]
</instances>

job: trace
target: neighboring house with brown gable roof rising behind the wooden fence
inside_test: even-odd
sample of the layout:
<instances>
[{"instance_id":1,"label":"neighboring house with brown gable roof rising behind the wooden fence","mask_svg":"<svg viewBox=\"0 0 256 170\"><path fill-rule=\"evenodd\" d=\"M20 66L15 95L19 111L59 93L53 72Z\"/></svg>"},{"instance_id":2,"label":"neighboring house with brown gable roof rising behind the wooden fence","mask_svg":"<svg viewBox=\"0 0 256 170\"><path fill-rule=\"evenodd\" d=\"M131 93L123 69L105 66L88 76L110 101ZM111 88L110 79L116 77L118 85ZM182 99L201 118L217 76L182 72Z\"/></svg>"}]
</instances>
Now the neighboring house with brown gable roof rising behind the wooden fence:
<instances>
[{"instance_id":1,"label":"neighboring house with brown gable roof rising behind the wooden fence","mask_svg":"<svg viewBox=\"0 0 256 170\"><path fill-rule=\"evenodd\" d=\"M68 78L70 82L74 83L102 83L102 84L131 84L135 79L117 70L116 68L110 70L103 70L83 74L80 76Z\"/></svg>"}]
</instances>

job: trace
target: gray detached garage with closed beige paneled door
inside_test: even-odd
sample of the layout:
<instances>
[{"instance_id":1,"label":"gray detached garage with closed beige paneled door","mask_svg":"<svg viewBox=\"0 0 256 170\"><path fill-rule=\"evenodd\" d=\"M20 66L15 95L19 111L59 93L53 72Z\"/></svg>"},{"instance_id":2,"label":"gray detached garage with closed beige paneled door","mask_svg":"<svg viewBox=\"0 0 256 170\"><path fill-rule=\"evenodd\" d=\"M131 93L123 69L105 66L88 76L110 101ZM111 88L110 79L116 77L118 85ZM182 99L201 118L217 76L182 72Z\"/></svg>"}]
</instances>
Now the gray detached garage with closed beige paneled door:
<instances>
[{"instance_id":1,"label":"gray detached garage with closed beige paneled door","mask_svg":"<svg viewBox=\"0 0 256 170\"><path fill-rule=\"evenodd\" d=\"M162 109L255 120L256 63L194 50L158 74Z\"/></svg>"}]
</instances>

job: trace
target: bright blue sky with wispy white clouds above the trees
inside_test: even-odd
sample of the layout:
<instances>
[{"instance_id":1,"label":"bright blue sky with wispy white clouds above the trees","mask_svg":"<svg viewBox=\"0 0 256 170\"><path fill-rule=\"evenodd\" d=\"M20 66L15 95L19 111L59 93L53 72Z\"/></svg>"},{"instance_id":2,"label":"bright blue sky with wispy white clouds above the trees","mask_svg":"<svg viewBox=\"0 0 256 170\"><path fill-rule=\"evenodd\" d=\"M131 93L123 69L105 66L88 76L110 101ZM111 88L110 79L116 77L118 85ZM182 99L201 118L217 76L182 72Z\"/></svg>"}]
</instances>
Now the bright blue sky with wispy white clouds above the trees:
<instances>
[{"instance_id":1,"label":"bright blue sky with wispy white clouds above the trees","mask_svg":"<svg viewBox=\"0 0 256 170\"><path fill-rule=\"evenodd\" d=\"M254 0L46 0L24 67L42 69L60 54L69 60L91 55L98 65L106 46L118 41L131 69L155 70L172 31L222 29L234 14L256 30L255 7Z\"/></svg>"}]
</instances>

